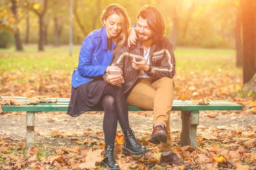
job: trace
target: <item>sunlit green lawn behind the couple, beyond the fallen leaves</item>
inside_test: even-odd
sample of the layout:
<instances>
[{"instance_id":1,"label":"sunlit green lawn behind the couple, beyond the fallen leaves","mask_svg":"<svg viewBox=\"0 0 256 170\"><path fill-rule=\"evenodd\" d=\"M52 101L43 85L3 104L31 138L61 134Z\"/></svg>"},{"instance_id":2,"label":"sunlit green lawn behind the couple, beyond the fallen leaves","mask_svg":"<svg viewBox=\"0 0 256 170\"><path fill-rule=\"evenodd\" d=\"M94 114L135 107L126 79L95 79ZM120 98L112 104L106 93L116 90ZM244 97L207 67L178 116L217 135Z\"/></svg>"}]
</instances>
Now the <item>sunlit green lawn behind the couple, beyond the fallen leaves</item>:
<instances>
[{"instance_id":1,"label":"sunlit green lawn behind the couple, beyond the fallen leaves","mask_svg":"<svg viewBox=\"0 0 256 170\"><path fill-rule=\"evenodd\" d=\"M0 49L0 72L71 75L78 65L80 45L74 46L72 57L68 46L46 46L45 52L37 52L36 45L24 49L24 52L15 52L15 48ZM231 49L177 48L174 52L179 74L230 71L241 74L241 68L236 68L235 51Z\"/></svg>"}]
</instances>

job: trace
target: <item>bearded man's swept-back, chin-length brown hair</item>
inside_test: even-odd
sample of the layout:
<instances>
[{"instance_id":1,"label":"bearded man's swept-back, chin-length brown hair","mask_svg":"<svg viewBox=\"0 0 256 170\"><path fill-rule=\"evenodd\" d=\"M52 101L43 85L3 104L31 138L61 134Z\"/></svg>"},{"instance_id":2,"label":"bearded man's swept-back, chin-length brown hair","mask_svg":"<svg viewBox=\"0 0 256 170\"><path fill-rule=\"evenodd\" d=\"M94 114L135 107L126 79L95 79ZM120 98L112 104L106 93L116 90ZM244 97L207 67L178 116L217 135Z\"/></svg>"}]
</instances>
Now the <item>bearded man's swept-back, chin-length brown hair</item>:
<instances>
[{"instance_id":1,"label":"bearded man's swept-back, chin-length brown hair","mask_svg":"<svg viewBox=\"0 0 256 170\"><path fill-rule=\"evenodd\" d=\"M137 16L138 20L139 17L147 20L148 27L152 31L153 40L160 40L163 38L165 31L165 21L163 14L159 11L158 8L149 5L143 6Z\"/></svg>"}]
</instances>

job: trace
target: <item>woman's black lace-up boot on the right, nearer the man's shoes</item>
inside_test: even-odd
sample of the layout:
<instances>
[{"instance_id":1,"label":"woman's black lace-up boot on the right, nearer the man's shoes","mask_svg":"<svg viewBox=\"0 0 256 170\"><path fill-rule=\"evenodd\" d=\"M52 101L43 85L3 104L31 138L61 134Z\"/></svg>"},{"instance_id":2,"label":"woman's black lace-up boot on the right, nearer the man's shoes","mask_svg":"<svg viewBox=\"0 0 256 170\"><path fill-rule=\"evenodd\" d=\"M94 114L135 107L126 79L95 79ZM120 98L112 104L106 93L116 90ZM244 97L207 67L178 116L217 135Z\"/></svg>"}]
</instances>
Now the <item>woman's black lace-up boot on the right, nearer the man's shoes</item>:
<instances>
[{"instance_id":1,"label":"woman's black lace-up boot on the right, nearer the man's shoes","mask_svg":"<svg viewBox=\"0 0 256 170\"><path fill-rule=\"evenodd\" d=\"M131 155L140 155L143 153L147 153L148 150L141 146L140 143L134 136L134 131L130 129L123 130L125 135L125 142L123 146L123 153L130 153Z\"/></svg>"}]
</instances>

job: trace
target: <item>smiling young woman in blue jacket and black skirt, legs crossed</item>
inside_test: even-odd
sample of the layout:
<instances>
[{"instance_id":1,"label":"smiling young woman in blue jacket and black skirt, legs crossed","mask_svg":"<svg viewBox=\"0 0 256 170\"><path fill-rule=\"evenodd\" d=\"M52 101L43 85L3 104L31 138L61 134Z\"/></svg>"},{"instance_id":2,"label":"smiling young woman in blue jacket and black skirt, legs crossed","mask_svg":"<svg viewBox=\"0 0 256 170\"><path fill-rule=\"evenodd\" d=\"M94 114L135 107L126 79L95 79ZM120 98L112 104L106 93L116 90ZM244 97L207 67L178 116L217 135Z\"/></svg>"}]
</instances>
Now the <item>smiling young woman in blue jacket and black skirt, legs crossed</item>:
<instances>
[{"instance_id":1,"label":"smiling young woman in blue jacket and black skirt, legs crossed","mask_svg":"<svg viewBox=\"0 0 256 170\"><path fill-rule=\"evenodd\" d=\"M102 163L109 169L118 170L113 156L117 121L125 136L123 152L132 155L146 153L145 147L137 142L128 121L128 107L122 85L123 77L108 77L113 85L103 80L109 70L122 70L108 66L113 57L116 44L125 41L130 21L125 8L118 4L109 5L102 14L104 26L85 37L79 54L79 65L72 74L72 92L67 114L79 116L93 107L105 111L103 131L105 135L105 158Z\"/></svg>"}]
</instances>

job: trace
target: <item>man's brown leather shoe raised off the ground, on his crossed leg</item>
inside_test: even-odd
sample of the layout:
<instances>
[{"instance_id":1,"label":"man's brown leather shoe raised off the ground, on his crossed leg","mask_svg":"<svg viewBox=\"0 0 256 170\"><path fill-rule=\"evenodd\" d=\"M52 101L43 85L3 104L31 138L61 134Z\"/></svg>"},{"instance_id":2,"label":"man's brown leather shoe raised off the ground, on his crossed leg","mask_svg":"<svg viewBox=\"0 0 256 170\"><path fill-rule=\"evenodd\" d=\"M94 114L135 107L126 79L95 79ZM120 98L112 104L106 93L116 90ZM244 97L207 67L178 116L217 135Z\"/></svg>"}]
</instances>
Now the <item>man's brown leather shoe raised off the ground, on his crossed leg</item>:
<instances>
[{"instance_id":1,"label":"man's brown leather shoe raised off the ground, on his crossed leg","mask_svg":"<svg viewBox=\"0 0 256 170\"><path fill-rule=\"evenodd\" d=\"M167 135L164 127L162 125L156 125L148 141L153 144L165 143L167 141Z\"/></svg>"}]
</instances>

